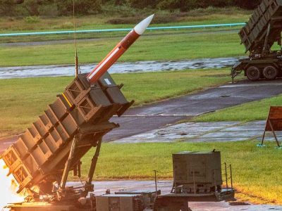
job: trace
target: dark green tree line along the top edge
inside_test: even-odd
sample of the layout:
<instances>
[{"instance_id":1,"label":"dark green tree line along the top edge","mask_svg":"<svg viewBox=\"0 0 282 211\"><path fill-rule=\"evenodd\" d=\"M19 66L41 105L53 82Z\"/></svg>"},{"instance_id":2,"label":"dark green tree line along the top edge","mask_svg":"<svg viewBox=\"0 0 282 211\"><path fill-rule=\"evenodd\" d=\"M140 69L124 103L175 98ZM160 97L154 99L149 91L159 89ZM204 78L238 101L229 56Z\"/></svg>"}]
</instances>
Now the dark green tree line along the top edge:
<instances>
[{"instance_id":1,"label":"dark green tree line along the top edge","mask_svg":"<svg viewBox=\"0 0 282 211\"><path fill-rule=\"evenodd\" d=\"M255 8L262 0L74 0L78 14L102 13L106 6L128 6L131 8L151 8L168 11L187 12L208 6L238 6L245 9ZM73 13L73 0L0 0L0 15L42 15L42 8L56 10L57 15ZM20 12L18 12L20 11Z\"/></svg>"}]
</instances>

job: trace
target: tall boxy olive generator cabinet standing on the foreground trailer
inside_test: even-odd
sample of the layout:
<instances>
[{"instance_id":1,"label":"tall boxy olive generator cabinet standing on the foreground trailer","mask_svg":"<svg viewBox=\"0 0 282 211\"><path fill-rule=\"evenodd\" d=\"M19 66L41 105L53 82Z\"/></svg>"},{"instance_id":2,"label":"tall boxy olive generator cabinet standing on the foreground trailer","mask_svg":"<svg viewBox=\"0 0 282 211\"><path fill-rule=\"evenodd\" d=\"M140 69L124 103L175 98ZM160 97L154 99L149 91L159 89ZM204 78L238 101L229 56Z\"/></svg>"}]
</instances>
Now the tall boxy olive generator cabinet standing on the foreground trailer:
<instances>
[{"instance_id":1,"label":"tall boxy olive generator cabinet standing on the foreground trailer","mask_svg":"<svg viewBox=\"0 0 282 211\"><path fill-rule=\"evenodd\" d=\"M181 152L173 154L173 189L176 193L221 191L220 152Z\"/></svg>"}]
</instances>

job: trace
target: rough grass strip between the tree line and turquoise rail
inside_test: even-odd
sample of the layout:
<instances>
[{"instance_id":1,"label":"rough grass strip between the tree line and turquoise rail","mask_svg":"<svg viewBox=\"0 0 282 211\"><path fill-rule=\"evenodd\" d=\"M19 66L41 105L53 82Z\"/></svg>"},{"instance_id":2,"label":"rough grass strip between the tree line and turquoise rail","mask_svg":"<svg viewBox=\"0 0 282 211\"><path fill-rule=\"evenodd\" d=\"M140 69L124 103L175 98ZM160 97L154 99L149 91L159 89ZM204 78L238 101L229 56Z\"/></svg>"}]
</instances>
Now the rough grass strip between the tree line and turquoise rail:
<instances>
[{"instance_id":1,"label":"rough grass strip between the tree line and turquoise rail","mask_svg":"<svg viewBox=\"0 0 282 211\"><path fill-rule=\"evenodd\" d=\"M161 23L161 20L153 21L152 26L169 25L202 25L214 23L238 23L245 22L252 14L252 11L244 11L240 8L200 8L188 13L169 13L166 11L135 11L132 14L117 13L77 16L75 25L78 30L87 29L111 29L122 27L133 27L136 19L142 20L148 15L155 13L155 20L167 19L171 17L171 23ZM110 24L110 20L121 19L128 24ZM38 17L33 23L26 21L27 18L15 17L0 20L0 33L9 32L30 32L30 31L54 31L54 30L73 30L73 17Z\"/></svg>"}]
</instances>

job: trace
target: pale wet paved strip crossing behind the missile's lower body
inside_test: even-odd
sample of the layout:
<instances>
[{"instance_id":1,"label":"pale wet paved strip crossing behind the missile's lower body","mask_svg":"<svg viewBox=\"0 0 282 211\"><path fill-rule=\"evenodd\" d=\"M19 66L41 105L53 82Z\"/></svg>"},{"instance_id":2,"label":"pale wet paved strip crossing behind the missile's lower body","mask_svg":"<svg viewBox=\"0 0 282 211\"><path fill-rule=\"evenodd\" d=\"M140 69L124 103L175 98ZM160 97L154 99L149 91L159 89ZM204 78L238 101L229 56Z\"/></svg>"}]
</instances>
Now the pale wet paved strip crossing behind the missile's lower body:
<instances>
[{"instance_id":1,"label":"pale wet paved strip crossing behind the missile's lower body","mask_svg":"<svg viewBox=\"0 0 282 211\"><path fill-rule=\"evenodd\" d=\"M233 66L242 57L198 58L190 60L147 60L114 63L109 73L159 72L173 70L219 69ZM87 73L97 64L80 64L80 72ZM35 65L22 67L0 67L0 79L23 77L73 76L74 65Z\"/></svg>"}]
</instances>

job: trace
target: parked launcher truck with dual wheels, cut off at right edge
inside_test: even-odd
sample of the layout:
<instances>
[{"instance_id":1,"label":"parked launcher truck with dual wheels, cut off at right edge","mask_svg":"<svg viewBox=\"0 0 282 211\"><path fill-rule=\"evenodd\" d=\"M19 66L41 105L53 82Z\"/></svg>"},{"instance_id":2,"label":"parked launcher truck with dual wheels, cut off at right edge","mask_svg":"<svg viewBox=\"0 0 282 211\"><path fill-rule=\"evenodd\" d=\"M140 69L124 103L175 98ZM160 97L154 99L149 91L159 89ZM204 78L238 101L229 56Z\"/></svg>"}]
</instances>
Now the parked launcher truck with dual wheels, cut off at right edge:
<instances>
[{"instance_id":1,"label":"parked launcher truck with dual wheels, cut off at right edge","mask_svg":"<svg viewBox=\"0 0 282 211\"><path fill-rule=\"evenodd\" d=\"M240 72L251 81L282 77L281 50L271 51L275 42L281 48L281 31L282 1L263 0L239 32L241 44L245 46L245 52L249 52L249 57L240 59L233 66L232 79Z\"/></svg>"}]
</instances>

